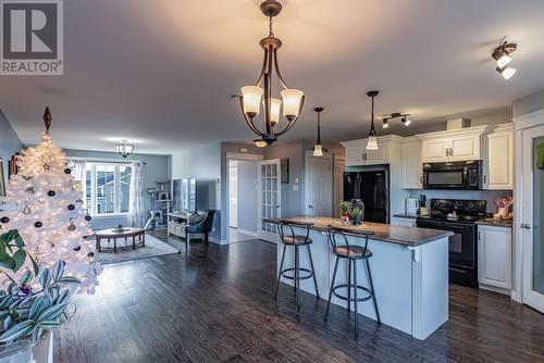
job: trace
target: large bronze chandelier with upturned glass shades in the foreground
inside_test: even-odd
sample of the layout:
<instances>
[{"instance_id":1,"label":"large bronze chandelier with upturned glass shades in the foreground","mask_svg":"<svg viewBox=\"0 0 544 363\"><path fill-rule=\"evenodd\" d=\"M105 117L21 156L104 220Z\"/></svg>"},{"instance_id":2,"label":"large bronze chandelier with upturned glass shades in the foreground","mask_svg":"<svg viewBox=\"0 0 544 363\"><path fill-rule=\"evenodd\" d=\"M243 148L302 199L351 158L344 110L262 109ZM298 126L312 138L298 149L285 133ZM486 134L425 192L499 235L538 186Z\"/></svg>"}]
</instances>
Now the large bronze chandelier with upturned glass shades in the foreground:
<instances>
[{"instance_id":1,"label":"large bronze chandelier with upturned glass shades in the foreground","mask_svg":"<svg viewBox=\"0 0 544 363\"><path fill-rule=\"evenodd\" d=\"M262 68L255 86L245 86L240 89L239 103L244 120L249 128L259 137L254 140L254 143L259 148L272 145L277 140L279 136L287 133L295 125L305 101L301 90L287 87L277 64L277 50L282 47L282 41L274 36L272 21L281 11L282 4L276 0L267 0L261 3L261 12L269 17L270 30L269 36L260 41L260 46L264 50ZM280 92L282 99L272 97L273 72L277 77L279 84L283 87L283 90ZM261 103L264 109L264 123L259 128L255 123L255 117L261 111ZM276 126L280 123L282 111L287 123L282 129L277 130Z\"/></svg>"}]
</instances>

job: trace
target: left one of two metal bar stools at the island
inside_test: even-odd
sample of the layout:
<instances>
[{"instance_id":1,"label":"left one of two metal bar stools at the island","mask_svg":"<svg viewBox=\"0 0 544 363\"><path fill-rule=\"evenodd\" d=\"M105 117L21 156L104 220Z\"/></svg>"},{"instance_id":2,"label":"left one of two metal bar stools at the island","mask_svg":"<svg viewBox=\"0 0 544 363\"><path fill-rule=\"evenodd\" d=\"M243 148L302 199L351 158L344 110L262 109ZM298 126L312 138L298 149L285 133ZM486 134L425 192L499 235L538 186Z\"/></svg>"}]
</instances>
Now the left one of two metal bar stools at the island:
<instances>
[{"instance_id":1,"label":"left one of two metal bar stools at the island","mask_svg":"<svg viewBox=\"0 0 544 363\"><path fill-rule=\"evenodd\" d=\"M275 291L274 291L274 299L277 298L277 288L280 287L280 279L283 277L293 279L295 280L295 302L297 305L297 311L300 309L300 300L298 296L298 291L300 290L300 280L301 279L307 279L313 277L313 285L316 286L316 296L319 299L319 291L318 291L318 281L316 279L316 270L313 268L313 260L311 258L311 250L310 250L310 245L312 243L310 236L310 227L313 226L313 223L298 223L298 222L287 222L287 221L281 221L276 220L275 221L277 225L277 234L280 235L280 238L282 239L283 242L283 253L282 253L282 262L280 263L280 273L277 274L277 281L275 284ZM285 235L285 229L289 228L288 231L290 234ZM306 235L296 235L294 228L301 228L306 229ZM308 256L310 259L310 268L304 268L300 267L300 247L306 246L308 248ZM285 251L287 250L287 247L294 247L295 248L295 266L294 267L288 267L288 268L283 268L283 262L285 259ZM307 273L304 276L300 276L300 272ZM288 275L287 273L293 273L292 275Z\"/></svg>"}]
</instances>

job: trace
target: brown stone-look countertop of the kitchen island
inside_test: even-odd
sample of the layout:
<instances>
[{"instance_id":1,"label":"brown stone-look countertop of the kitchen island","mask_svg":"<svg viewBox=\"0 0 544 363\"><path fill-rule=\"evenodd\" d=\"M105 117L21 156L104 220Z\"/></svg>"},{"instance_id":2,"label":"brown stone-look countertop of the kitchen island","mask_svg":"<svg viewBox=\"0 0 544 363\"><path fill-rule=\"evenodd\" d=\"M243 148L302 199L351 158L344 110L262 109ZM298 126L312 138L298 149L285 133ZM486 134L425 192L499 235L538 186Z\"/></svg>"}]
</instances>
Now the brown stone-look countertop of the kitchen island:
<instances>
[{"instance_id":1,"label":"brown stone-look countertop of the kitchen island","mask_svg":"<svg viewBox=\"0 0 544 363\"><path fill-rule=\"evenodd\" d=\"M418 227L394 226L391 224L363 222L359 226L351 224L343 225L341 218L331 218L324 216L295 216L282 218L285 222L301 222L313 223L311 227L314 230L326 230L329 225L338 226L354 231L368 230L373 231L372 239L398 243L408 247L416 247L423 243L432 242L434 240L453 236L454 234L448 230L437 230ZM271 220L269 220L271 222Z\"/></svg>"}]
</instances>

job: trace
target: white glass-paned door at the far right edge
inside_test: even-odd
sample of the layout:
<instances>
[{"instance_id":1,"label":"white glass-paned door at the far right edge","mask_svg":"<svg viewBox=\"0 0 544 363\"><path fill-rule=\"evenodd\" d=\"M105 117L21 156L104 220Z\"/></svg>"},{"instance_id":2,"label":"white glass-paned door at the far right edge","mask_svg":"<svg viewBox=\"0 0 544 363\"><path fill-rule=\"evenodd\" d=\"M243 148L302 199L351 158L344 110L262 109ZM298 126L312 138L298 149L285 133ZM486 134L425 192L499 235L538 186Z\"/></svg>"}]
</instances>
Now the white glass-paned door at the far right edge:
<instances>
[{"instance_id":1,"label":"white glass-paned door at the far right edge","mask_svg":"<svg viewBox=\"0 0 544 363\"><path fill-rule=\"evenodd\" d=\"M544 126L523 132L523 302L544 313Z\"/></svg>"}]
</instances>

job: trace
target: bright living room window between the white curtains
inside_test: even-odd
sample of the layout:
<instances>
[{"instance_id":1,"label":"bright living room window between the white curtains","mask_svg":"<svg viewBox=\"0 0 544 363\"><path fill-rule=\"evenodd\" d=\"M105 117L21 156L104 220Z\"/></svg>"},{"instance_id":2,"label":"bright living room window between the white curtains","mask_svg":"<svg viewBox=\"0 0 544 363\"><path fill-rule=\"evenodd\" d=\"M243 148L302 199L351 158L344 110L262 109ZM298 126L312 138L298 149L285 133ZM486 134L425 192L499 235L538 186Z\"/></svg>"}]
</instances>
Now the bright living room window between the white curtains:
<instances>
[{"instance_id":1,"label":"bright living room window between the white curtains","mask_svg":"<svg viewBox=\"0 0 544 363\"><path fill-rule=\"evenodd\" d=\"M86 202L91 215L128 213L131 204L131 166L87 163Z\"/></svg>"}]
</instances>

